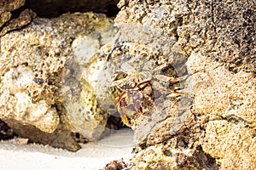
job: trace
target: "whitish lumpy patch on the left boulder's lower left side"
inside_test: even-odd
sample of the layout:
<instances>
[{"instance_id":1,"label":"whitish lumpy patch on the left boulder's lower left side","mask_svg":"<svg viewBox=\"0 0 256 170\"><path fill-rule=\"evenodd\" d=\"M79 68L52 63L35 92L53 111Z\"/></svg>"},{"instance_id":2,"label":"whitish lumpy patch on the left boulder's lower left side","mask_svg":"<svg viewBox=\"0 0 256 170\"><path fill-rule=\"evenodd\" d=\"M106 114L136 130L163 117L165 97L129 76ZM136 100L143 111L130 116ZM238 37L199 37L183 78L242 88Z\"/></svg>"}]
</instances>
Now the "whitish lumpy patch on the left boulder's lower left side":
<instances>
[{"instance_id":1,"label":"whitish lumpy patch on the left boulder's lower left side","mask_svg":"<svg viewBox=\"0 0 256 170\"><path fill-rule=\"evenodd\" d=\"M16 120L52 133L60 122L57 111L47 105L45 100L32 102L27 89L31 82L32 69L29 66L19 65L5 72L1 78L1 118L10 127L13 127L10 123Z\"/></svg>"}]
</instances>

